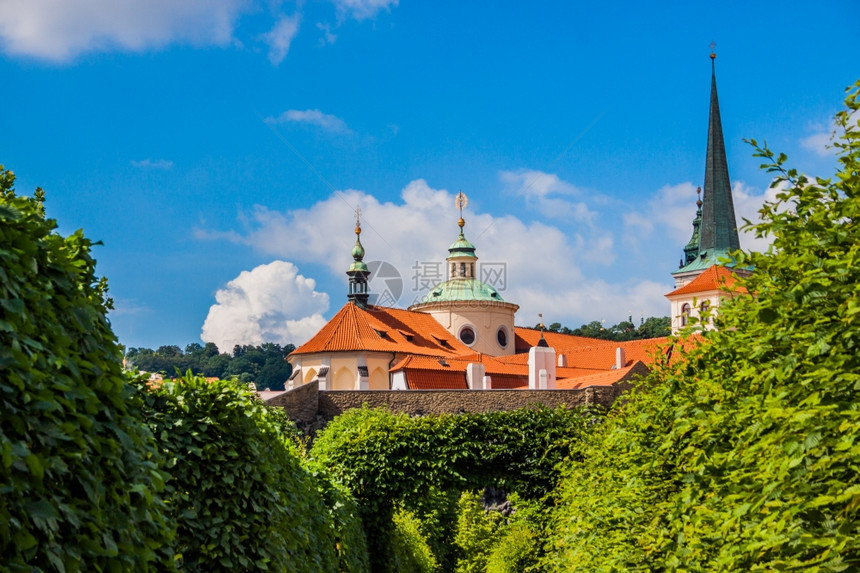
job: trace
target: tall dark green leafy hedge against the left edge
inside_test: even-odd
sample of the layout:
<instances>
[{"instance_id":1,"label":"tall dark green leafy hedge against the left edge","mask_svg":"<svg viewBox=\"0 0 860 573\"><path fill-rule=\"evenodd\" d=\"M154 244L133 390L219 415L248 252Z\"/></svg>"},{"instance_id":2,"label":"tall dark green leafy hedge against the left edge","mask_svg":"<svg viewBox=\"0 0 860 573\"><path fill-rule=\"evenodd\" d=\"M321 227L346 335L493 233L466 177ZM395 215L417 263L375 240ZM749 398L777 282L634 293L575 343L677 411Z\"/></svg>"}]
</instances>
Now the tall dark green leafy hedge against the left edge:
<instances>
[{"instance_id":1,"label":"tall dark green leafy hedge against the left edge","mask_svg":"<svg viewBox=\"0 0 860 573\"><path fill-rule=\"evenodd\" d=\"M57 234L42 191L14 180L0 166L0 569L170 568L157 450L92 243Z\"/></svg>"}]
</instances>

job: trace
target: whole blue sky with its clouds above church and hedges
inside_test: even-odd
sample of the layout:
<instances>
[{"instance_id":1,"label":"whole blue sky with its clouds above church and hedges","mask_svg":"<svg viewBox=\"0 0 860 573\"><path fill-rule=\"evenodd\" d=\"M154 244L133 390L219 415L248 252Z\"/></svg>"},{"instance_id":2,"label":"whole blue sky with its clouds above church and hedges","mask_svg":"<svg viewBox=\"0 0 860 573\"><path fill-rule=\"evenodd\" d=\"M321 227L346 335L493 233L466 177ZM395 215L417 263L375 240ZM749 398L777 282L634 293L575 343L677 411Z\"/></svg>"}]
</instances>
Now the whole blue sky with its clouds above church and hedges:
<instances>
[{"instance_id":1,"label":"whole blue sky with its clouds above church and hedges","mask_svg":"<svg viewBox=\"0 0 860 573\"><path fill-rule=\"evenodd\" d=\"M3 0L0 163L104 243L128 346L302 342L346 300L356 204L408 306L459 190L518 324L614 324L668 312L711 41L754 217L769 180L742 138L833 171L858 21L854 1Z\"/></svg>"}]
</instances>

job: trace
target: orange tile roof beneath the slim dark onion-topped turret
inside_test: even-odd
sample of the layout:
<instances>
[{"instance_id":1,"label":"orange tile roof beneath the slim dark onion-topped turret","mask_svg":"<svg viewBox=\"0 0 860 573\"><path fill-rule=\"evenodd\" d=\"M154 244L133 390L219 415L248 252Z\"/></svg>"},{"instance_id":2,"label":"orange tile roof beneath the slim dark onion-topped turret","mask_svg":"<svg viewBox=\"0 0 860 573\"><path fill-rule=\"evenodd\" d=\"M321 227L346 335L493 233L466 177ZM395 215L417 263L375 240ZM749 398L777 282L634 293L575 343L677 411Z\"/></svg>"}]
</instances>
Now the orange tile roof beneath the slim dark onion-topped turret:
<instances>
[{"instance_id":1,"label":"orange tile roof beneath the slim dark onion-topped turret","mask_svg":"<svg viewBox=\"0 0 860 573\"><path fill-rule=\"evenodd\" d=\"M349 302L292 354L371 350L453 356L470 352L429 314Z\"/></svg>"}]
</instances>

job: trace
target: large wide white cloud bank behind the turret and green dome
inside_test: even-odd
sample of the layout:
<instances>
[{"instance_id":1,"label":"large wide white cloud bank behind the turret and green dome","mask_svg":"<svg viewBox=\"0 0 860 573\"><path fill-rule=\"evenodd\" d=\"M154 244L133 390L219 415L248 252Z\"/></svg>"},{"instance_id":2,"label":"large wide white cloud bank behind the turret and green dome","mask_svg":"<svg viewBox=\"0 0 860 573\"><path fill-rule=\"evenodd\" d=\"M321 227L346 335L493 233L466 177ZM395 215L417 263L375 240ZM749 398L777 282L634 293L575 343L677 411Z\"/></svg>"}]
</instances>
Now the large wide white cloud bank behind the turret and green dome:
<instances>
[{"instance_id":1,"label":"large wide white cloud bank behind the turret and green dome","mask_svg":"<svg viewBox=\"0 0 860 573\"><path fill-rule=\"evenodd\" d=\"M409 183L398 202L380 202L367 193L346 190L307 209L279 212L257 206L243 215L241 231L198 230L197 236L250 245L298 263L322 263L344 285L335 299L346 302L345 271L352 262L354 208L359 204L365 262L393 264L403 279L399 306L409 306L431 286L422 282L437 282L432 277L422 281L416 263L428 263L429 270L435 265L444 275L447 248L459 231L453 194L433 189L423 179ZM536 323L539 312L551 317L551 322L571 326L595 317L614 324L626 319L628 311L636 316L667 313L663 294L670 290L668 275L667 284L629 276L613 284L597 276L597 259L605 262L612 257L609 232L568 235L544 222L525 222L513 215L494 217L468 208L464 218L465 235L477 247L479 264L505 265L507 284L500 290L505 300L520 305L518 324Z\"/></svg>"}]
</instances>

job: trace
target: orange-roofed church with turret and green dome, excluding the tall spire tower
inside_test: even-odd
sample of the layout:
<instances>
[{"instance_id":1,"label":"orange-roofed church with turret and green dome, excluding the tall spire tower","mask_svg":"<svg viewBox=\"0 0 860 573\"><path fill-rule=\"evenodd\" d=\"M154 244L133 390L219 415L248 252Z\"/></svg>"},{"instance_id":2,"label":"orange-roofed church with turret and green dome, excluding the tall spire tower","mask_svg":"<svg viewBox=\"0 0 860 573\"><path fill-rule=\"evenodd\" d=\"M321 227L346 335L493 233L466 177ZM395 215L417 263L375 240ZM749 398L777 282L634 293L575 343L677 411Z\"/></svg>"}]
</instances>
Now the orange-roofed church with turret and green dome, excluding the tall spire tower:
<instances>
[{"instance_id":1,"label":"orange-roofed church with turret and green dome, excluding the tall spire tower","mask_svg":"<svg viewBox=\"0 0 860 573\"><path fill-rule=\"evenodd\" d=\"M465 196L457 197L462 207ZM647 372L664 339L613 342L514 325L516 304L476 277L465 236L448 248L446 281L406 310L368 304L361 226L355 228L348 302L288 357L288 387L321 390L552 389L607 386Z\"/></svg>"}]
</instances>

